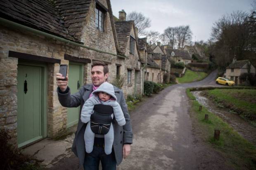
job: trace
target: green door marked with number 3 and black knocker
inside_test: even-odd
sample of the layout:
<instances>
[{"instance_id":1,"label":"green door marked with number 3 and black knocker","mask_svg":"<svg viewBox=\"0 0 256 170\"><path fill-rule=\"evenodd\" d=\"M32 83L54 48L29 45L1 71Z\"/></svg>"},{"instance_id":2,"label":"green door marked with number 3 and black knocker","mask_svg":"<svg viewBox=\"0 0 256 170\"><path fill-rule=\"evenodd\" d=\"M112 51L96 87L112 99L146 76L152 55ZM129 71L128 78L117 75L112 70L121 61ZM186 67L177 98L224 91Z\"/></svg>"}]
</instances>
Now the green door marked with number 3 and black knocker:
<instances>
[{"instance_id":1,"label":"green door marked with number 3 and black knocker","mask_svg":"<svg viewBox=\"0 0 256 170\"><path fill-rule=\"evenodd\" d=\"M42 68L18 65L18 147L42 138Z\"/></svg>"}]
</instances>

